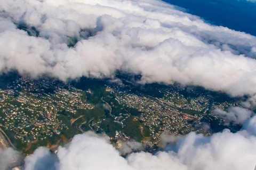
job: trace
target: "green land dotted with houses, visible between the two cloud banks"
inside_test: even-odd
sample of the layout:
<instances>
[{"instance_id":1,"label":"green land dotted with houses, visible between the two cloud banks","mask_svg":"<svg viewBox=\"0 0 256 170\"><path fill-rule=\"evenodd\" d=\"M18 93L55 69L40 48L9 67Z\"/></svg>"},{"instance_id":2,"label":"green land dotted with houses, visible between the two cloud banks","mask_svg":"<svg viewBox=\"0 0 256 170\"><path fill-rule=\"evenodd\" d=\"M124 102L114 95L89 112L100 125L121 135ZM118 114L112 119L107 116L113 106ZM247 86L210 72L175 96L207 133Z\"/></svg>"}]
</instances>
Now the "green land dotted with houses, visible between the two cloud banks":
<instances>
[{"instance_id":1,"label":"green land dotted with houses, visible between the two cloud banks","mask_svg":"<svg viewBox=\"0 0 256 170\"><path fill-rule=\"evenodd\" d=\"M70 39L75 42L75 39ZM197 125L211 126L205 135L227 126L212 115L215 108L238 106L241 99L206 91L201 87L146 84L135 86L135 77L119 78L125 86L107 79L81 78L63 83L50 78L32 80L17 73L0 76L0 124L18 150L31 153L39 146L66 144L86 131L106 133L118 140L157 143L164 131L173 134L202 132ZM137 77L140 78L140 77ZM131 80L131 81L130 81ZM231 131L239 126L231 124Z\"/></svg>"}]
</instances>

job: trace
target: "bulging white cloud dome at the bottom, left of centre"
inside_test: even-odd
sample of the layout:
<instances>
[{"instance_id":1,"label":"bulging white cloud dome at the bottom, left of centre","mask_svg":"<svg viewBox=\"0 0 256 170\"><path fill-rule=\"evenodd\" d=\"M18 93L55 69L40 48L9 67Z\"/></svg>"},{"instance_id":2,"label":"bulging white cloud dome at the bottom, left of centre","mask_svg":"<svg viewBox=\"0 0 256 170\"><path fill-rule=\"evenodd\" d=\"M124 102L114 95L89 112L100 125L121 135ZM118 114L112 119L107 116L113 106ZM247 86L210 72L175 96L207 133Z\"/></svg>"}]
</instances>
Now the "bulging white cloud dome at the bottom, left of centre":
<instances>
[{"instance_id":1,"label":"bulging white cloud dome at the bottom, left of centre","mask_svg":"<svg viewBox=\"0 0 256 170\"><path fill-rule=\"evenodd\" d=\"M76 135L67 147L59 147L57 155L45 148L38 148L26 158L25 170L130 169L127 161L119 156L119 152L107 139L109 138L106 136L86 132ZM53 157L58 159L54 162Z\"/></svg>"}]
</instances>

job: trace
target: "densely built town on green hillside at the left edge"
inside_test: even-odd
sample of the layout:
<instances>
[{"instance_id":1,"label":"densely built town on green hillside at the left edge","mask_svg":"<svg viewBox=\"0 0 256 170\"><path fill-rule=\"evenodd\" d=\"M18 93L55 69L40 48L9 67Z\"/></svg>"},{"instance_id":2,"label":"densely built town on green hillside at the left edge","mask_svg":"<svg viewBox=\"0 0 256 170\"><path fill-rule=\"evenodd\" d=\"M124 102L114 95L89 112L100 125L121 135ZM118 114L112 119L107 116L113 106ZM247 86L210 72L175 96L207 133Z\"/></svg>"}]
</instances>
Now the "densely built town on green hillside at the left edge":
<instances>
[{"instance_id":1,"label":"densely built town on green hillside at the left edge","mask_svg":"<svg viewBox=\"0 0 256 170\"><path fill-rule=\"evenodd\" d=\"M58 111L66 109L75 114L77 109L94 108L82 100L81 90L60 82L20 78L8 88L0 90L1 125L23 142L43 140L68 128L57 118Z\"/></svg>"}]
</instances>

